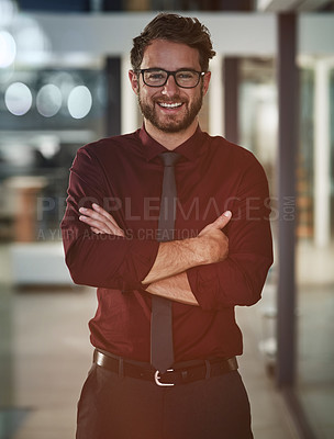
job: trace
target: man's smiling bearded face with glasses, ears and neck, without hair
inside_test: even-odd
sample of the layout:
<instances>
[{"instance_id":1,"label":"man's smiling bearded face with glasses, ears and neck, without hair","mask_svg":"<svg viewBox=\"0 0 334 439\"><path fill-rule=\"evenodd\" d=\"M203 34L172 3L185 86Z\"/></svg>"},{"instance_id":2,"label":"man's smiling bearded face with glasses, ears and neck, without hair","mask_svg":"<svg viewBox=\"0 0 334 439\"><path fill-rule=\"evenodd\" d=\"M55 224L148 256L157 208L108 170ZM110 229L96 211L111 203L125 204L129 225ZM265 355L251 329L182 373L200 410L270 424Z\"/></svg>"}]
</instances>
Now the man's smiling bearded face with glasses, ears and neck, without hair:
<instances>
[{"instance_id":1,"label":"man's smiling bearded face with glasses, ears and neck, without hair","mask_svg":"<svg viewBox=\"0 0 334 439\"><path fill-rule=\"evenodd\" d=\"M198 58L196 48L164 40L155 40L146 48L141 69L131 71L130 77L148 132L194 132L210 79L209 71L201 71ZM141 88L138 71L146 87ZM169 80L171 75L174 80Z\"/></svg>"}]
</instances>

